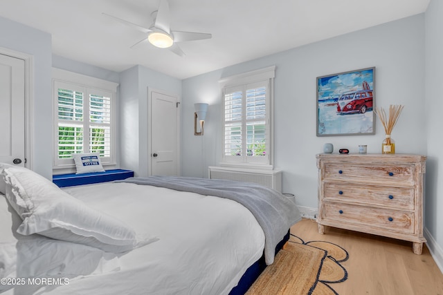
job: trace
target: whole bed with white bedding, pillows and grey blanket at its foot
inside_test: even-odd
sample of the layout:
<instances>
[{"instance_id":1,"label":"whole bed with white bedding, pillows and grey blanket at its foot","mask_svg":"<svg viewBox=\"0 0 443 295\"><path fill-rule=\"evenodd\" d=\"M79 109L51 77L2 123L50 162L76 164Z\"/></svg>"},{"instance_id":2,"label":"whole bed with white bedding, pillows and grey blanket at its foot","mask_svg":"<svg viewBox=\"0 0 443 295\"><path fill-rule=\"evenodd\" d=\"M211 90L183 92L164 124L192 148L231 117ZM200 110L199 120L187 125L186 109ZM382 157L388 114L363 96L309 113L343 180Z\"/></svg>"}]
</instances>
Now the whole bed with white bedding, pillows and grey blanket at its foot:
<instances>
[{"instance_id":1,"label":"whole bed with white bedding, pillows and grey blanket at its foot","mask_svg":"<svg viewBox=\"0 0 443 295\"><path fill-rule=\"evenodd\" d=\"M3 294L242 294L301 219L280 193L243 182L59 189L25 168L0 164L0 175ZM261 213L259 191L269 203Z\"/></svg>"}]
</instances>

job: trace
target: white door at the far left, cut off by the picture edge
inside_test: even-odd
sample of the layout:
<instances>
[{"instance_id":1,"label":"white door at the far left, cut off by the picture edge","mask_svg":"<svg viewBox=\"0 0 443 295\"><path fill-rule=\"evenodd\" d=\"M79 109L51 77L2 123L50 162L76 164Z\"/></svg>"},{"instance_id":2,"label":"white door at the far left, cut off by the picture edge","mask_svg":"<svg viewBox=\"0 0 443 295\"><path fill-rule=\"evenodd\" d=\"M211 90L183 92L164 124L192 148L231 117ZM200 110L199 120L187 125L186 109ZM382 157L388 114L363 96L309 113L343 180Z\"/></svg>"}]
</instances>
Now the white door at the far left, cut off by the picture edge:
<instances>
[{"instance_id":1,"label":"white door at the far left, cut off by the picture edge","mask_svg":"<svg viewBox=\"0 0 443 295\"><path fill-rule=\"evenodd\" d=\"M0 55L0 162L25 164L25 61Z\"/></svg>"}]
</instances>

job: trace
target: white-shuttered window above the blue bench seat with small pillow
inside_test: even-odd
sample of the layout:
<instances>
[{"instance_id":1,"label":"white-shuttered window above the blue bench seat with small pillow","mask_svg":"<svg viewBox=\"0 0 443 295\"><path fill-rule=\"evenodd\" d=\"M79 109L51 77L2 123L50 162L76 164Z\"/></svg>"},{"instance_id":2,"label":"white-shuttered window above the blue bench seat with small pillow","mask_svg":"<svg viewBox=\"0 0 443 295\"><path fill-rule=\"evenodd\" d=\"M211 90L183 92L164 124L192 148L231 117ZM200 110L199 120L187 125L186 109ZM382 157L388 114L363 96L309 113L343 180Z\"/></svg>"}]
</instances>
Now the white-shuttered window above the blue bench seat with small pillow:
<instances>
[{"instance_id":1,"label":"white-shuttered window above the blue bench seat with small pillow","mask_svg":"<svg viewBox=\"0 0 443 295\"><path fill-rule=\"evenodd\" d=\"M115 164L117 84L58 69L54 73L54 168L73 167L73 153L97 152L102 164Z\"/></svg>"}]
</instances>

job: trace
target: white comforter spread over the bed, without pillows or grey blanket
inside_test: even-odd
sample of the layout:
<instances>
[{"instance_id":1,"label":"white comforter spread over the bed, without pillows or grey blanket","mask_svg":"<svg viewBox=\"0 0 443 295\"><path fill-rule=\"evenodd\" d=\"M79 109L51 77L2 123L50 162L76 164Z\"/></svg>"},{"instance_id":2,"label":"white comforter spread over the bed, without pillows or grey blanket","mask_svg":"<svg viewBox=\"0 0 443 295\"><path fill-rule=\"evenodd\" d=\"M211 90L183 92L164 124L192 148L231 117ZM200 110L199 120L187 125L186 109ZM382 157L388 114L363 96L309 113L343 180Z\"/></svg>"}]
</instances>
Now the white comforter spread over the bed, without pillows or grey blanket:
<instances>
[{"instance_id":1,"label":"white comforter spread over the bed, without pillows or grey blanket","mask_svg":"<svg viewBox=\"0 0 443 295\"><path fill-rule=\"evenodd\" d=\"M159 240L125 254L36 235L26 237L31 242L17 243L18 235L12 232L19 217L6 209L6 199L0 196L0 277L17 278L29 271L22 269L17 274L19 267L13 267L17 257L33 259L17 251L34 254L46 247L52 253L60 250L60 255L52 257L55 263L35 263L45 265L53 277L69 278L69 285L33 287L33 291L39 288L37 294L228 294L263 254L261 227L250 211L232 200L114 182L64 191L123 220L138 235ZM16 244L26 247L12 247ZM69 247L72 245L75 249ZM32 266L31 262L29 269ZM29 294L26 287L5 294Z\"/></svg>"}]
</instances>

